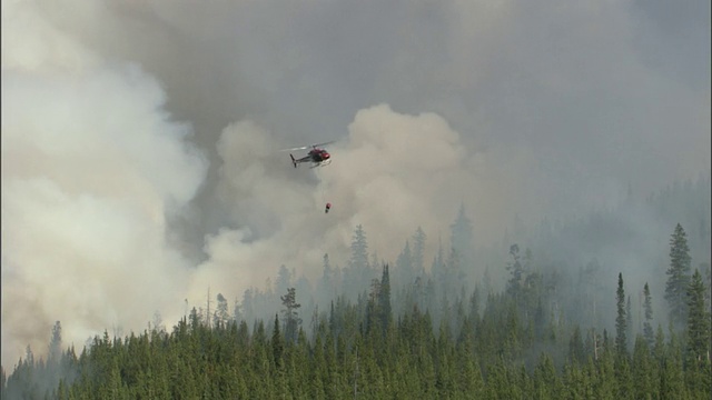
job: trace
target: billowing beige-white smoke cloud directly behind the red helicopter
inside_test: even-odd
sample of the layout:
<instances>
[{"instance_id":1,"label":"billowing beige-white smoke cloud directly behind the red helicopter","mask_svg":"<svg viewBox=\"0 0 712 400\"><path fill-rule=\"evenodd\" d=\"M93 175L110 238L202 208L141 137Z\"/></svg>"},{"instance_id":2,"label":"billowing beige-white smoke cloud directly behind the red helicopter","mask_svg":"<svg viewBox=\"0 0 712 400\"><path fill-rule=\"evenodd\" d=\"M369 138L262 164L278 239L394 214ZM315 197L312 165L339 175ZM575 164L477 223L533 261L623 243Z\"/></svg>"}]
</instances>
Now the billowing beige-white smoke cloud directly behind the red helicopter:
<instances>
[{"instance_id":1,"label":"billowing beige-white smoke cloud directly behind the red helicopter","mask_svg":"<svg viewBox=\"0 0 712 400\"><path fill-rule=\"evenodd\" d=\"M328 147L327 167L294 169L278 149L253 122L224 130L219 193L230 210L226 226L240 228L207 238L209 260L196 272L190 299L200 301L208 287L241 293L283 263L314 279L324 253L347 260L357 224L370 249L393 261L418 226L447 238L453 210L471 190L458 181L476 183L459 136L444 119L397 113L387 104L356 114L348 136ZM333 208L325 214L327 202Z\"/></svg>"}]
</instances>

